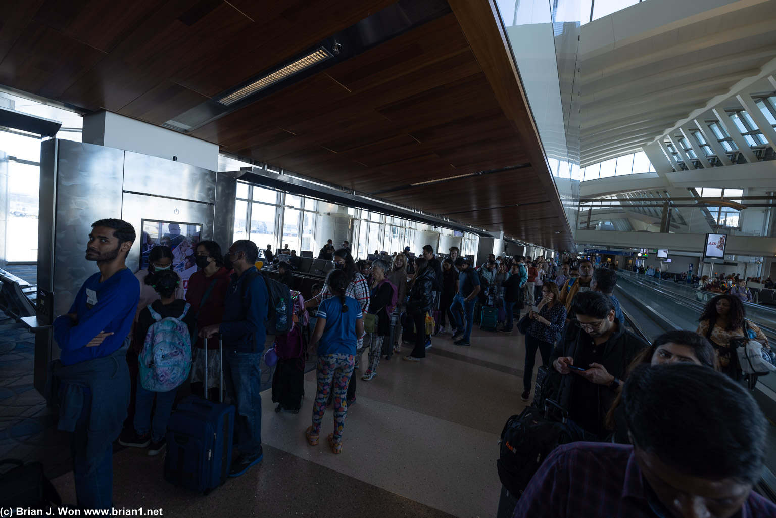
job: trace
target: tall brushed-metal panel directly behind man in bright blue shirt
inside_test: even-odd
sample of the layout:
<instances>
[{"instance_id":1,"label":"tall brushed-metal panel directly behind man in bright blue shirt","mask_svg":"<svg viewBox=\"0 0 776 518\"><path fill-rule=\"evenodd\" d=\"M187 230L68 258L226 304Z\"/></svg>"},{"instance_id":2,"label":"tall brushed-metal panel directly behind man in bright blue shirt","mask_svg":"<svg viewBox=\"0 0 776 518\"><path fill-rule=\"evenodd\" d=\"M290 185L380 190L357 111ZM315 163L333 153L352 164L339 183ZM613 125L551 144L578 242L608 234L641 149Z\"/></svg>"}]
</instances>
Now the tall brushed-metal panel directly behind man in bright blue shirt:
<instances>
[{"instance_id":1,"label":"tall brushed-metal panel directly behind man in bright blue shirt","mask_svg":"<svg viewBox=\"0 0 776 518\"><path fill-rule=\"evenodd\" d=\"M98 271L95 262L85 259L92 223L121 217L124 151L73 141L58 141L57 148L52 259L58 316L68 312L81 284Z\"/></svg>"}]
</instances>

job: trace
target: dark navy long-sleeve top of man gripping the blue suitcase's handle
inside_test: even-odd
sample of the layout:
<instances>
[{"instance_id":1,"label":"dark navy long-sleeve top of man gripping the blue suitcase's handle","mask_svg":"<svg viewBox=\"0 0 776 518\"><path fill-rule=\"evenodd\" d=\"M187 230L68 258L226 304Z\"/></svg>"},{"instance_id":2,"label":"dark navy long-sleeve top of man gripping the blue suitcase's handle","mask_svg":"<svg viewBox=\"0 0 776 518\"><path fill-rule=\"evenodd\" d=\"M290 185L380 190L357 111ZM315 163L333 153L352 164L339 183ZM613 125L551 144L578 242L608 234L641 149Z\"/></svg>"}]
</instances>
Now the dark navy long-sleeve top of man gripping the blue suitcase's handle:
<instances>
[{"instance_id":1,"label":"dark navy long-sleeve top of man gripping the blue suitcase's handle","mask_svg":"<svg viewBox=\"0 0 776 518\"><path fill-rule=\"evenodd\" d=\"M225 348L238 353L262 353L267 339L264 322L267 319L269 294L261 276L255 276L243 289L242 285L249 273L256 273L255 266L245 270L239 277L237 273L231 275L232 282L227 287L219 331L223 334Z\"/></svg>"}]
</instances>

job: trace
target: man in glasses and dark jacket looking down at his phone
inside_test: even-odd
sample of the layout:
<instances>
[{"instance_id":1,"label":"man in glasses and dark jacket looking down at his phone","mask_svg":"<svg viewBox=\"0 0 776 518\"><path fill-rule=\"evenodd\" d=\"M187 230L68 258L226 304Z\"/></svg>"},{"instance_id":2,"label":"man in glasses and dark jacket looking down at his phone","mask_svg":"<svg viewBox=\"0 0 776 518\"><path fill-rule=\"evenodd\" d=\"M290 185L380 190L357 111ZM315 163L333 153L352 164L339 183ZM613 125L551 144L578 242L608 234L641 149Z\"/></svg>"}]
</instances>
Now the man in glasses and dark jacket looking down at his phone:
<instances>
[{"instance_id":1,"label":"man in glasses and dark jacket looking down at his phone","mask_svg":"<svg viewBox=\"0 0 776 518\"><path fill-rule=\"evenodd\" d=\"M559 387L559 404L569 419L604 439L606 414L617 398L632 360L648 346L615 318L615 305L605 294L584 291L571 303L577 322L566 325L553 350L550 371Z\"/></svg>"}]
</instances>

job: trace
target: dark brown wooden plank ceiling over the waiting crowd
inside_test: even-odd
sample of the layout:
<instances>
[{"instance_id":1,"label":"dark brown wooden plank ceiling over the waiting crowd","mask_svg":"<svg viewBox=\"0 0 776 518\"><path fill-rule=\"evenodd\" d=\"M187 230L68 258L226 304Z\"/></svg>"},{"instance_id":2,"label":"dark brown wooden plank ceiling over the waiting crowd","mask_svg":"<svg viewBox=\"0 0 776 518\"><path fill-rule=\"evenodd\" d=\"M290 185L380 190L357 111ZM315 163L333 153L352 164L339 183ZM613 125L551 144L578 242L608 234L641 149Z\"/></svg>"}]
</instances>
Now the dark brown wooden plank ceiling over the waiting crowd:
<instances>
[{"instance_id":1,"label":"dark brown wooden plank ceiling over the waiting crowd","mask_svg":"<svg viewBox=\"0 0 776 518\"><path fill-rule=\"evenodd\" d=\"M393 1L12 2L0 30L0 84L161 124ZM499 44L506 55L499 31L472 33L477 16L497 27L492 0L469 2L480 3L452 0L451 14L191 134L234 155L572 249L516 75L483 58ZM514 82L517 102L494 91L496 74L507 76L500 88ZM521 168L408 187L513 166Z\"/></svg>"}]
</instances>

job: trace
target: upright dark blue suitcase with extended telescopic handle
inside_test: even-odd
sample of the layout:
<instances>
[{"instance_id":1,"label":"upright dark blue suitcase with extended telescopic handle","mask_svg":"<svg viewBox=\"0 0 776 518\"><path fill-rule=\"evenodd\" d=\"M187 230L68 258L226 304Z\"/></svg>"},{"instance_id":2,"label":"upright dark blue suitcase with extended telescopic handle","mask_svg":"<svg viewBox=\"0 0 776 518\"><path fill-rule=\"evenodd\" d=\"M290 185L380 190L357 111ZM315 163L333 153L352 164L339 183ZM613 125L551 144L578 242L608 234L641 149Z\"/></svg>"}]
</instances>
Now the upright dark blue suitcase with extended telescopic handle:
<instances>
[{"instance_id":1,"label":"upright dark blue suitcase with extended telescopic handle","mask_svg":"<svg viewBox=\"0 0 776 518\"><path fill-rule=\"evenodd\" d=\"M214 403L198 395L190 395L178 403L167 426L165 480L205 494L227 480L232 464L234 405L223 403L221 335L218 335L218 350L221 357L220 402ZM203 385L207 391L207 381Z\"/></svg>"}]
</instances>

